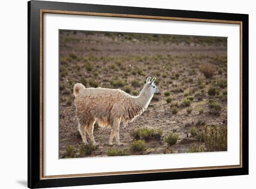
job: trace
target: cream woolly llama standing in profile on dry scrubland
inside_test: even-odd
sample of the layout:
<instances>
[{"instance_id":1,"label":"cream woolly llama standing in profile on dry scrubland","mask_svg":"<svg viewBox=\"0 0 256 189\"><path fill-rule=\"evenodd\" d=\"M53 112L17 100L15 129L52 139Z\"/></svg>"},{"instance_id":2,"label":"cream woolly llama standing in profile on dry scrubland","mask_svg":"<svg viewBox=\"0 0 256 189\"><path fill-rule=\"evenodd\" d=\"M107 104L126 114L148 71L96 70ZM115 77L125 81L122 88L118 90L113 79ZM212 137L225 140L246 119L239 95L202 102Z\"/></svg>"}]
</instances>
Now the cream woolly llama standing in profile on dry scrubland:
<instances>
[{"instance_id":1,"label":"cream woolly llama standing in profile on dry scrubland","mask_svg":"<svg viewBox=\"0 0 256 189\"><path fill-rule=\"evenodd\" d=\"M153 95L158 93L155 86L155 77L150 81L148 77L140 95L132 96L120 89L85 88L81 83L74 85L74 104L78 120L78 130L84 144L88 144L86 132L93 145L93 129L95 121L101 127L111 127L108 145L112 146L115 136L117 145L119 141L119 127L122 122L125 126L145 111Z\"/></svg>"}]
</instances>

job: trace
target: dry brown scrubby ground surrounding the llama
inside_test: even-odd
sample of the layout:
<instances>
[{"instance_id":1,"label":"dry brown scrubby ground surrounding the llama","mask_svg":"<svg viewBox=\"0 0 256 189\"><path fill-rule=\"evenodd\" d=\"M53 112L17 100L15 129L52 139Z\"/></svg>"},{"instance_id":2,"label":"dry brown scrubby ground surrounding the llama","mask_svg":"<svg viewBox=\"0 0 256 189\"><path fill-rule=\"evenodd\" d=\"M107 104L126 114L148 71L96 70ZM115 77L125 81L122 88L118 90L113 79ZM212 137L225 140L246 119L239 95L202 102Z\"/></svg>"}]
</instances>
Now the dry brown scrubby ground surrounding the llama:
<instances>
[{"instance_id":1,"label":"dry brown scrubby ground surrounding the llama","mask_svg":"<svg viewBox=\"0 0 256 189\"><path fill-rule=\"evenodd\" d=\"M207 79L200 66L209 63L215 73ZM138 34L118 34L101 32L60 31L60 157L64 157L67 145L74 145L76 153L82 145L77 135L73 86L82 82L86 87L121 88L137 95L148 76L157 77L156 86L160 93L155 95L144 113L126 128L121 124L120 140L128 148L133 142L129 131L136 127L161 128L163 135L176 132L179 139L169 146L163 140L146 142L147 150L140 154L159 154L164 149L174 153L184 153L191 145L202 145L188 132L199 125L222 126L227 124L227 98L222 94L227 88L217 85L227 79L226 38L199 38L184 36L159 36ZM202 83L199 83L201 80ZM116 82L118 81L118 82ZM136 83L136 82L137 83ZM220 95L210 97L208 89L214 86ZM171 103L166 102L164 92L170 92ZM187 107L181 106L177 114L171 106L193 96ZM209 113L209 99L221 104L219 115ZM203 113L199 110L203 108ZM200 124L204 122L204 124ZM94 138L99 148L90 157L107 156L110 129L94 128ZM138 153L131 153L138 154Z\"/></svg>"}]
</instances>

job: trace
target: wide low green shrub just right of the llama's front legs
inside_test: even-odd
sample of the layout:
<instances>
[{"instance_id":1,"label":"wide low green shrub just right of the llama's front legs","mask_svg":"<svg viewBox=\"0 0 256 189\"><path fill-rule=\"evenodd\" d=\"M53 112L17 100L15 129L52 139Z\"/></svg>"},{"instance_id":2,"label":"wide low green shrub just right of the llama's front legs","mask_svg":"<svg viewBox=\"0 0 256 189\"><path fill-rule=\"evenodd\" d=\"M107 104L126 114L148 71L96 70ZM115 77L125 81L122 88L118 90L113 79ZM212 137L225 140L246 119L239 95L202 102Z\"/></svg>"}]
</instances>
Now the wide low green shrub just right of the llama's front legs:
<instances>
[{"instance_id":1,"label":"wide low green shrub just right of the llama's front legs","mask_svg":"<svg viewBox=\"0 0 256 189\"><path fill-rule=\"evenodd\" d=\"M134 140L160 140L162 138L162 129L136 128L131 130L129 134Z\"/></svg>"}]
</instances>

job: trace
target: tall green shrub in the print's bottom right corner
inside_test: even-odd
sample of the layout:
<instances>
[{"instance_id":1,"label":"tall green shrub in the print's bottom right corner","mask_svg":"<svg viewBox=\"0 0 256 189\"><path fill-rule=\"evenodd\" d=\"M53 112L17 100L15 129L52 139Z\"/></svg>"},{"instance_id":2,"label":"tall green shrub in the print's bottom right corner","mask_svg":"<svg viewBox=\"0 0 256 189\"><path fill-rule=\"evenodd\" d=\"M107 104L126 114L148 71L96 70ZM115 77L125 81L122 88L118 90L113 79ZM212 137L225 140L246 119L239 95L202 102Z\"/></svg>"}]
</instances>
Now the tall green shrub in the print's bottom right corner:
<instances>
[{"instance_id":1,"label":"tall green shrub in the print's bottom right corner","mask_svg":"<svg viewBox=\"0 0 256 189\"><path fill-rule=\"evenodd\" d=\"M227 126L205 126L203 135L207 151L227 151Z\"/></svg>"}]
</instances>

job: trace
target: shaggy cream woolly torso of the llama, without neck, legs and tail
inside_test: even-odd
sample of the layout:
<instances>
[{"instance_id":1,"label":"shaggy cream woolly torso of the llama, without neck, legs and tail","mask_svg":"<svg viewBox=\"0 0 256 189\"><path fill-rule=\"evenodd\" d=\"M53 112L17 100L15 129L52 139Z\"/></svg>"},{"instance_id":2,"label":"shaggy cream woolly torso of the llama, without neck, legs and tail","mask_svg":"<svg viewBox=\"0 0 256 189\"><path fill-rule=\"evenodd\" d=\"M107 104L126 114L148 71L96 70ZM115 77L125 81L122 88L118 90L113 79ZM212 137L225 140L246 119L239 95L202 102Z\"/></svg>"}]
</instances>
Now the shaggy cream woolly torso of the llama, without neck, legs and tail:
<instances>
[{"instance_id":1,"label":"shaggy cream woolly torso of the llama, without neck, legs and tail","mask_svg":"<svg viewBox=\"0 0 256 189\"><path fill-rule=\"evenodd\" d=\"M97 118L100 125L108 126L112 118L121 115L122 108L119 105L129 97L119 89L81 88L75 95L77 117Z\"/></svg>"}]
</instances>

